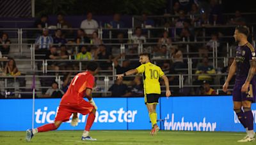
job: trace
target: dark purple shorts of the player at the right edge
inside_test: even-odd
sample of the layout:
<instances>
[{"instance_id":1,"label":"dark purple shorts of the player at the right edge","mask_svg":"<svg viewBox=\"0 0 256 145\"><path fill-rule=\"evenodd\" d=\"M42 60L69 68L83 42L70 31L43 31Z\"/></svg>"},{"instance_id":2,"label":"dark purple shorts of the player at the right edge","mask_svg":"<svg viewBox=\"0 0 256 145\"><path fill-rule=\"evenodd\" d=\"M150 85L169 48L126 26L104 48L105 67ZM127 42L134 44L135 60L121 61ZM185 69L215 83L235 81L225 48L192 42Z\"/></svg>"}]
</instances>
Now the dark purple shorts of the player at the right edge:
<instances>
[{"instance_id":1,"label":"dark purple shorts of the player at the right edge","mask_svg":"<svg viewBox=\"0 0 256 145\"><path fill-rule=\"evenodd\" d=\"M235 86L233 88L233 93L232 93L233 101L242 102L244 100L250 100L252 102L255 102L255 99L256 99L255 81L250 83L247 93L241 92L241 88L244 82L245 82L245 79L244 81L236 81Z\"/></svg>"}]
</instances>

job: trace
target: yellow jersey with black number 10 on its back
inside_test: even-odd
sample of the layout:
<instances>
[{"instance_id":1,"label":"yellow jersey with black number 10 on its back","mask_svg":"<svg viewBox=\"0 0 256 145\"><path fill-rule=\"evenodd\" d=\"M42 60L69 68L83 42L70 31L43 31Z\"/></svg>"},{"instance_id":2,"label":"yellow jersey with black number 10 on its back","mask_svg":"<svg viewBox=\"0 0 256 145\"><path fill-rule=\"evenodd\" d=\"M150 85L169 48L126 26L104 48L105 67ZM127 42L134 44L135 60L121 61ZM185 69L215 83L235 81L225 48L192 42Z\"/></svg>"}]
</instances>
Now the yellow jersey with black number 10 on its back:
<instances>
[{"instance_id":1,"label":"yellow jersey with black number 10 on its back","mask_svg":"<svg viewBox=\"0 0 256 145\"><path fill-rule=\"evenodd\" d=\"M141 64L141 66L136 69L138 70L138 73L143 74L144 94L161 94L159 78L164 75L162 69L150 62Z\"/></svg>"}]
</instances>

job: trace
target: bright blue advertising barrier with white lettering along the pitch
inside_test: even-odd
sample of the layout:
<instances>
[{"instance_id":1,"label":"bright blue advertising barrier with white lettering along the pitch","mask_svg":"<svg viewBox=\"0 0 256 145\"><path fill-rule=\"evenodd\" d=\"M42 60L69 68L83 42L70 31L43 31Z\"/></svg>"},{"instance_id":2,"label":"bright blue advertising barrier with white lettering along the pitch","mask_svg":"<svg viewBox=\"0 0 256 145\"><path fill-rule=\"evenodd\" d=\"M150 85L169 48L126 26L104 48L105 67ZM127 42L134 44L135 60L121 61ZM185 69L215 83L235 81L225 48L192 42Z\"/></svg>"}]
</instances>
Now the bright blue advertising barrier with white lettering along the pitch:
<instances>
[{"instance_id":1,"label":"bright blue advertising barrier with white lettering along the pitch","mask_svg":"<svg viewBox=\"0 0 256 145\"><path fill-rule=\"evenodd\" d=\"M99 109L92 130L148 130L151 123L142 97L95 98ZM231 96L161 97L157 106L162 130L244 131L233 111ZM35 127L52 123L60 99L35 99ZM32 99L1 99L0 131L22 131L32 125ZM256 106L252 106L256 116ZM79 125L63 123L59 130L83 130L86 116ZM254 129L256 120L254 120ZM256 129L255 129L256 130Z\"/></svg>"}]
</instances>

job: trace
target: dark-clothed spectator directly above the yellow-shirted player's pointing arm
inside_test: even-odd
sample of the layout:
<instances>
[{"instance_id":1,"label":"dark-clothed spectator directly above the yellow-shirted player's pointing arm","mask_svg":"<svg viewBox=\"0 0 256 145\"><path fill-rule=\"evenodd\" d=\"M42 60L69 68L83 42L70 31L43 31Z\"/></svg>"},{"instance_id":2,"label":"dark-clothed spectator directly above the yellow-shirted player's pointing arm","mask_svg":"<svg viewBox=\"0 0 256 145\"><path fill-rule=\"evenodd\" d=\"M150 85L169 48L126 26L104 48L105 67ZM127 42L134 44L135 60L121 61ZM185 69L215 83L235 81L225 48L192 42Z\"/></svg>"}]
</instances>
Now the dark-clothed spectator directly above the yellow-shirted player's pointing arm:
<instances>
[{"instance_id":1,"label":"dark-clothed spectator directly above the yellow-shirted player's pointing arm","mask_svg":"<svg viewBox=\"0 0 256 145\"><path fill-rule=\"evenodd\" d=\"M127 71L129 71L131 69L131 67L130 67L131 62L130 62L130 60L124 60L122 62L122 66L120 66L118 64L118 59L120 59L124 55L125 55L125 53L122 53L122 54L118 55L117 57L115 57L115 59L113 59L114 66L115 66L115 69L116 69L116 74L123 74L124 72L127 72Z\"/></svg>"}]
</instances>

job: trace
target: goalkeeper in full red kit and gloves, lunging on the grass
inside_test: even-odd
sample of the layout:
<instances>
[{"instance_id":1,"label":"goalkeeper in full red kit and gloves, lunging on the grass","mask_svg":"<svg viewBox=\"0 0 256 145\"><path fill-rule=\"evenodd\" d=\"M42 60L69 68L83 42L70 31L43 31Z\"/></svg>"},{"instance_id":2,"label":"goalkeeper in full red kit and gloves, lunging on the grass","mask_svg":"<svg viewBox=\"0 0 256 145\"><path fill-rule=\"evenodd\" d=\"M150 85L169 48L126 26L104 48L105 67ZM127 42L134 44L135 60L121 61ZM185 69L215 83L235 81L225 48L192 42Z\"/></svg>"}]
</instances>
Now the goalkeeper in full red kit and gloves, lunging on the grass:
<instances>
[{"instance_id":1,"label":"goalkeeper in full red kit and gloves, lunging on the grass","mask_svg":"<svg viewBox=\"0 0 256 145\"><path fill-rule=\"evenodd\" d=\"M98 64L96 62L88 62L86 71L77 74L70 83L67 92L63 95L60 101L58 113L54 123L48 123L38 128L32 128L26 131L26 141L31 141L33 135L37 132L47 132L56 130L62 122L68 121L72 117L72 126L78 123L77 113L83 115L88 114L86 127L82 135L82 140L96 141L89 136L90 128L95 119L97 106L92 99L92 88L94 85L94 76L97 73ZM86 97L89 102L83 99Z\"/></svg>"}]
</instances>

